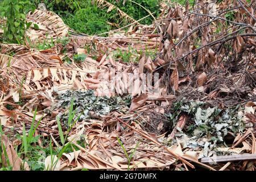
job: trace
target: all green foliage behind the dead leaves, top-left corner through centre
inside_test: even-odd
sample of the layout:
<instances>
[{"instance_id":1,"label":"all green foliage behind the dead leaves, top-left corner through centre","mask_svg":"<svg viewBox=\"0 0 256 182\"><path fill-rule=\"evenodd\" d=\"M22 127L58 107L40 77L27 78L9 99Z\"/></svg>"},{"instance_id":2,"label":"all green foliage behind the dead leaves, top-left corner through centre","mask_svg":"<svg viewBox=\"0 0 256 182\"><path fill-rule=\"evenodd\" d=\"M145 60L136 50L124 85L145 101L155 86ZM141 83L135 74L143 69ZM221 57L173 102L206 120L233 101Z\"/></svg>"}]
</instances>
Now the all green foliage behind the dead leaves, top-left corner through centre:
<instances>
[{"instance_id":1,"label":"all green foliage behind the dead leaves, top-left corner through centre","mask_svg":"<svg viewBox=\"0 0 256 182\"><path fill-rule=\"evenodd\" d=\"M150 11L155 17L160 13L159 0L106 0L112 3L135 20L144 18ZM45 3L47 10L54 11L63 18L64 22L73 30L88 35L97 35L109 30L126 26L129 22L121 18L117 9L107 13L108 7L97 7L96 0L0 0L0 16L7 18L7 24L2 27L5 30L5 41L22 42L26 25L25 15L33 11L39 3ZM144 8L143 8L143 7ZM147 9L147 10L145 10ZM9 20L8 20L9 19ZM142 24L151 24L152 16L141 20ZM110 23L117 26L112 26Z\"/></svg>"}]
</instances>

